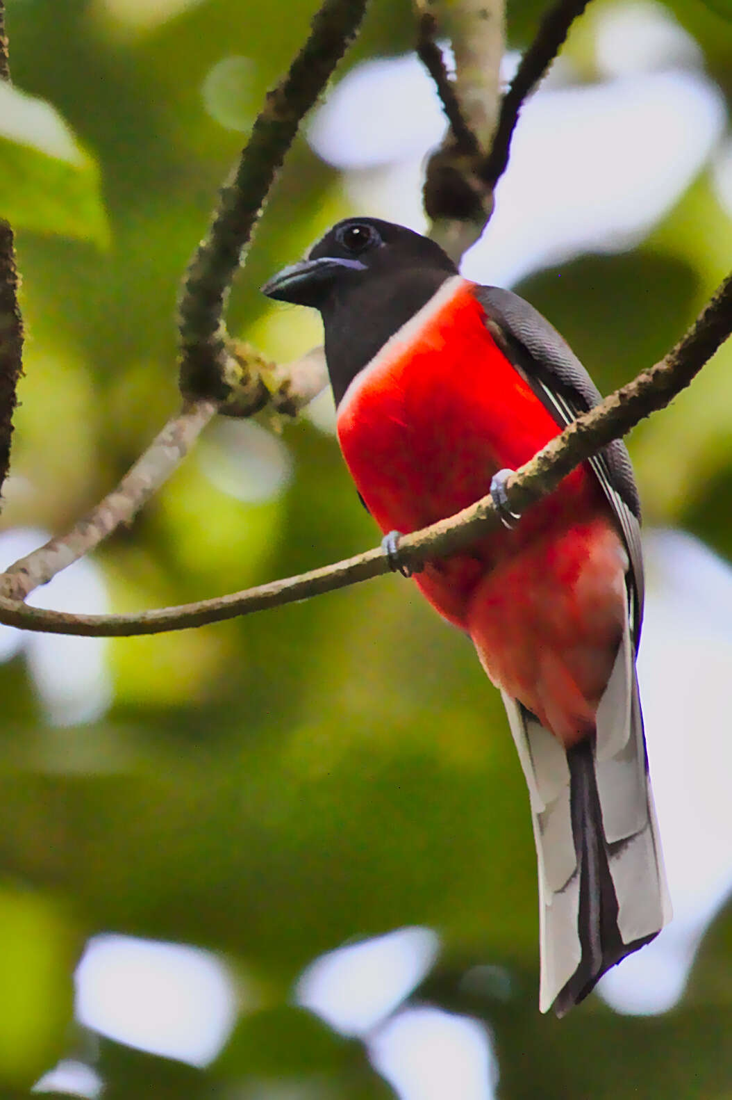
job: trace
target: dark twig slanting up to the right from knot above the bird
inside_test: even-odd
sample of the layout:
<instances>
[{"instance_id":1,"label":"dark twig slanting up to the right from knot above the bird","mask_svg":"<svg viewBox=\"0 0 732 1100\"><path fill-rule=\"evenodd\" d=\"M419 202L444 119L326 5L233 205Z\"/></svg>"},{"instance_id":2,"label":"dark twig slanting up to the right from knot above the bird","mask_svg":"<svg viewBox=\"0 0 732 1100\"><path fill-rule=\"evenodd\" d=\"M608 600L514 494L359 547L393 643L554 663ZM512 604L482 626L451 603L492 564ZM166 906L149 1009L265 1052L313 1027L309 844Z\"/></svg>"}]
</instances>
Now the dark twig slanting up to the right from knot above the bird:
<instances>
[{"instance_id":1,"label":"dark twig slanting up to the right from knot above the bird","mask_svg":"<svg viewBox=\"0 0 732 1100\"><path fill-rule=\"evenodd\" d=\"M495 187L506 172L511 151L513 130L521 108L529 95L564 45L569 28L578 19L589 0L558 0L542 19L536 37L531 43L503 97L498 127L490 148L480 169L480 176L489 187Z\"/></svg>"}]
</instances>

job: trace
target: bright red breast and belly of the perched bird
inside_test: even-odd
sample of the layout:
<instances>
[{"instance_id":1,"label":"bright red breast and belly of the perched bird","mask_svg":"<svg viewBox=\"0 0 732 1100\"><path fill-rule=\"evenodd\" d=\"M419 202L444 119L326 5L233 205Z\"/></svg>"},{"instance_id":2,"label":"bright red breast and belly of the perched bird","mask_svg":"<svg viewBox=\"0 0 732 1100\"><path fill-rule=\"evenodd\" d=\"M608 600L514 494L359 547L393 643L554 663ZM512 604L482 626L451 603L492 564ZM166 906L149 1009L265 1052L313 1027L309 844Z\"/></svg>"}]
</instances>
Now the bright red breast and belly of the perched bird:
<instances>
[{"instance_id":1,"label":"bright red breast and belly of the perched bird","mask_svg":"<svg viewBox=\"0 0 732 1100\"><path fill-rule=\"evenodd\" d=\"M339 408L345 460L382 531L466 507L493 473L520 466L559 431L469 288L456 284L408 348L390 342ZM430 562L414 580L470 634L491 679L569 743L591 726L612 668L623 554L599 485L579 468L517 530Z\"/></svg>"}]
</instances>

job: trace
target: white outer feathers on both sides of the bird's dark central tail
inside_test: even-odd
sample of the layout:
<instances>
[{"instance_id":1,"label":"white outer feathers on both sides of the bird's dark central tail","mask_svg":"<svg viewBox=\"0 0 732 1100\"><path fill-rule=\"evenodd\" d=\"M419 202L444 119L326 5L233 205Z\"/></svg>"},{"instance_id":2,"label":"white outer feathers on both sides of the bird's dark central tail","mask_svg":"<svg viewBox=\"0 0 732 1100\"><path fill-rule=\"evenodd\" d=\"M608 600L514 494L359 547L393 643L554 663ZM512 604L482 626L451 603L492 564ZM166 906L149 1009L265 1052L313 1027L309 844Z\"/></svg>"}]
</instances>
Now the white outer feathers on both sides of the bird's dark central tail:
<instances>
[{"instance_id":1,"label":"white outer feathers on both sides of the bird's dark central tail","mask_svg":"<svg viewBox=\"0 0 732 1100\"><path fill-rule=\"evenodd\" d=\"M539 864L540 1009L546 1012L583 955L569 767L554 735L517 700L506 692L501 695L531 802ZM628 615L596 728L594 763L601 831L618 900L618 931L623 944L630 945L659 932L672 910L647 776Z\"/></svg>"}]
</instances>

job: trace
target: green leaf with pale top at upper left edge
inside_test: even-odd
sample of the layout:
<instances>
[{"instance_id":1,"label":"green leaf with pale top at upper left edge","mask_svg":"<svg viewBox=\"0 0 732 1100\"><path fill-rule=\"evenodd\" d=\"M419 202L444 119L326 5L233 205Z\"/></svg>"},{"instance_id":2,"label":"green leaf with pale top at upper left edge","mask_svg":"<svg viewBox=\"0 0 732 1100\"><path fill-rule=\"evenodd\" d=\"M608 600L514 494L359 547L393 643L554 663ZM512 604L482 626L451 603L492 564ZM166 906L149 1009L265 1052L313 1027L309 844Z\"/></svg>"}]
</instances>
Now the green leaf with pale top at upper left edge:
<instances>
[{"instance_id":1,"label":"green leaf with pale top at upper left edge","mask_svg":"<svg viewBox=\"0 0 732 1100\"><path fill-rule=\"evenodd\" d=\"M15 229L109 244L99 172L54 108L0 85L0 215Z\"/></svg>"}]
</instances>

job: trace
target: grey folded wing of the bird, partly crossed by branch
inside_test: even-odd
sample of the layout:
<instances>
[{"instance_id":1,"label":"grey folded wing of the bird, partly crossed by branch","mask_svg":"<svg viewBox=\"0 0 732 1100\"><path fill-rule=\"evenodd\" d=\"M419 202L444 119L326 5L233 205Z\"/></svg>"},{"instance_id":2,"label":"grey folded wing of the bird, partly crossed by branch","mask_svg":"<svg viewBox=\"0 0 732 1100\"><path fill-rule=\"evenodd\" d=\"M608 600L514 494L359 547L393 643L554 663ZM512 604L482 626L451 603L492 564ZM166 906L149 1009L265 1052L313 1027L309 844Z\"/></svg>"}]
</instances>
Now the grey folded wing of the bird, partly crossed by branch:
<instances>
[{"instance_id":1,"label":"grey folded wing of the bird, partly crossed by branch","mask_svg":"<svg viewBox=\"0 0 732 1100\"><path fill-rule=\"evenodd\" d=\"M557 425L565 427L602 398L589 374L556 329L528 301L493 286L479 286L475 295L486 310L486 323ZM625 444L613 440L589 460L618 520L630 571L628 588L631 637L635 648L643 619L643 558L641 504Z\"/></svg>"}]
</instances>

